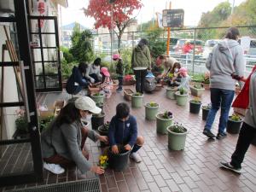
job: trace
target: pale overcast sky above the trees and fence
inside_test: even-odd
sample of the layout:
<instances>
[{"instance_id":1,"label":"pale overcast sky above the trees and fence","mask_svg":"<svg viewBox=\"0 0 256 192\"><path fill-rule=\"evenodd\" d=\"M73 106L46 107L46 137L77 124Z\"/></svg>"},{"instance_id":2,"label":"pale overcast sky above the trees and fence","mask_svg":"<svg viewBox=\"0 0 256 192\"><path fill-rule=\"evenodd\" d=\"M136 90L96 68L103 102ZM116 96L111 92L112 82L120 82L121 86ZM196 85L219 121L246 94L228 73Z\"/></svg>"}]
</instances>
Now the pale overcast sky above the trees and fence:
<instances>
[{"instance_id":1,"label":"pale overcast sky above the trees and fence","mask_svg":"<svg viewBox=\"0 0 256 192\"><path fill-rule=\"evenodd\" d=\"M235 6L239 5L245 0L229 0L232 4L235 2ZM89 0L68 0L68 8L62 8L62 25L67 25L74 21L79 22L83 26L93 28L94 20L84 16L81 8L87 8ZM169 7L168 1L168 7ZM173 0L172 9L184 9L184 25L196 26L201 18L203 12L212 10L218 3L224 2L224 0ZM143 8L137 16L138 23L151 20L155 12L162 12L162 9L166 9L166 0L143 0ZM137 13L135 13L137 15Z\"/></svg>"}]
</instances>

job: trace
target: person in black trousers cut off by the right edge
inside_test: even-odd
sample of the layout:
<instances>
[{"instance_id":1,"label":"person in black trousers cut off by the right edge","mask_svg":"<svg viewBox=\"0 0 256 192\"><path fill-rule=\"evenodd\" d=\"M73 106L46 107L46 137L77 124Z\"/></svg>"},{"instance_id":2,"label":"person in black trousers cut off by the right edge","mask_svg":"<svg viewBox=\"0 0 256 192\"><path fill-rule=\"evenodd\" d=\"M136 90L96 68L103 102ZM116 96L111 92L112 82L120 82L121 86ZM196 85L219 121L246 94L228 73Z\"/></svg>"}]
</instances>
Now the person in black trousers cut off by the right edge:
<instances>
[{"instance_id":1,"label":"person in black trousers cut off by the right edge","mask_svg":"<svg viewBox=\"0 0 256 192\"><path fill-rule=\"evenodd\" d=\"M249 86L249 107L245 115L241 131L236 143L236 150L232 154L231 161L220 161L219 166L229 169L236 173L241 173L241 163L247 149L253 141L256 134L256 71L253 72Z\"/></svg>"}]
</instances>

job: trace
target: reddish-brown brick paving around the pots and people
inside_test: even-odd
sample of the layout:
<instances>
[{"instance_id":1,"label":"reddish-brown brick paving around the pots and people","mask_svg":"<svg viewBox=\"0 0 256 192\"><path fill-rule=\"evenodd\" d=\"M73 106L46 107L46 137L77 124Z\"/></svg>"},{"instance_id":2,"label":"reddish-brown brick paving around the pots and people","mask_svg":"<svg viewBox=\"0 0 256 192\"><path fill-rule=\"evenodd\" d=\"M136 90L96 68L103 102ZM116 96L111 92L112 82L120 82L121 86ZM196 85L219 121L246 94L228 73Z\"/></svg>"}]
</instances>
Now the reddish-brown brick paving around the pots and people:
<instances>
[{"instance_id":1,"label":"reddish-brown brick paving around the pots and people","mask_svg":"<svg viewBox=\"0 0 256 192\"><path fill-rule=\"evenodd\" d=\"M201 120L201 113L189 113L189 103L185 107L177 106L175 101L166 98L164 89L154 94L144 95L144 102L152 101L160 103L160 112L172 111L174 120L182 123L189 130L185 149L183 151L168 150L167 136L156 134L155 121L145 119L145 109L131 108L131 113L137 117L139 134L145 138L145 144L139 151L143 162L139 164L129 162L129 167L124 172L107 170L100 176L102 192L256 190L256 161L253 158L256 148L254 146L251 146L247 152L240 176L221 170L218 168L218 160L230 160L230 155L236 147L237 135L229 134L222 141L207 140L201 133L205 124ZM116 93L107 100L104 106L107 115L105 121L111 119L115 106L119 102L125 101L121 94ZM202 102L203 104L209 102L209 91L205 91ZM128 103L131 106L131 102ZM217 120L213 125L215 133L218 130ZM95 163L102 153L98 145L99 143L86 142L86 147L90 151L90 160ZM90 173L81 175L76 168L67 170L59 176L49 172L44 172L44 175L44 183L26 184L16 188L95 177Z\"/></svg>"}]
</instances>

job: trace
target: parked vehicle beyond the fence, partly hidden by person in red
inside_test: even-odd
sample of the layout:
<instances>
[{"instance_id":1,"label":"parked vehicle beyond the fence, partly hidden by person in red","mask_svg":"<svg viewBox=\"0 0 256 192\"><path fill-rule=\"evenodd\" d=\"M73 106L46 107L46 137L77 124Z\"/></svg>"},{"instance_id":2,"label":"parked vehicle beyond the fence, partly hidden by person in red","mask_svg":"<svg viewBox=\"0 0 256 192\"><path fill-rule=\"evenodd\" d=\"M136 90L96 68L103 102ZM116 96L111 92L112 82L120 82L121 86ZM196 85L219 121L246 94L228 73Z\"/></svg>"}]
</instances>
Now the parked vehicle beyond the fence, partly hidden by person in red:
<instances>
[{"instance_id":1,"label":"parked vehicle beyond the fence, partly hidden by person in red","mask_svg":"<svg viewBox=\"0 0 256 192\"><path fill-rule=\"evenodd\" d=\"M195 39L194 41L194 39L186 39L186 38L177 40L177 44L175 46L175 52L184 53L183 50L184 50L184 46L186 46L186 43L191 45L190 51L193 51L195 46L196 55L201 54L203 52L203 44L204 44L203 41L198 39Z\"/></svg>"}]
</instances>

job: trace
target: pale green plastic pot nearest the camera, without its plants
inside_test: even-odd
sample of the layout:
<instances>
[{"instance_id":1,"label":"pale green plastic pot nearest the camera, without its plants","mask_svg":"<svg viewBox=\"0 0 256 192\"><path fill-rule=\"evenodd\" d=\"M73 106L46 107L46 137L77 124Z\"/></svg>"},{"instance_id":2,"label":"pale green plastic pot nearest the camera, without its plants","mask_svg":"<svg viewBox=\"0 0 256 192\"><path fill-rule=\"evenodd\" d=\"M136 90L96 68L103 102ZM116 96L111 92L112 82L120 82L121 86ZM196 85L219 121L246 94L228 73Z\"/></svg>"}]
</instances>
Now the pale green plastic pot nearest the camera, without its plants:
<instances>
[{"instance_id":1,"label":"pale green plastic pot nearest the camera, without its plants","mask_svg":"<svg viewBox=\"0 0 256 192\"><path fill-rule=\"evenodd\" d=\"M168 131L168 148L171 150L183 150L185 148L186 143L186 137L188 134L188 131L186 129L186 132L184 133L177 133L171 131L172 126L167 127Z\"/></svg>"}]
</instances>

